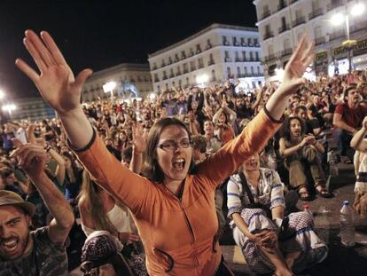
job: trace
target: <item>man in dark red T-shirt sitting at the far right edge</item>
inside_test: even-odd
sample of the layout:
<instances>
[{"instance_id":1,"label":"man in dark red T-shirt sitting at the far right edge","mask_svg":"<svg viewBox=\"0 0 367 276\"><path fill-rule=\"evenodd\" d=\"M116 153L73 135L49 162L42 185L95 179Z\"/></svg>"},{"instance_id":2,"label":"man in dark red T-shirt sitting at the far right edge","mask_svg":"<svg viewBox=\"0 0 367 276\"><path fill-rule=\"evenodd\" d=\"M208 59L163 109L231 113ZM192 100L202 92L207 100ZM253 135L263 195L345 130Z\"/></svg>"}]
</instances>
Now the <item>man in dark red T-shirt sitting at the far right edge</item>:
<instances>
[{"instance_id":1,"label":"man in dark red T-shirt sitting at the far right edge","mask_svg":"<svg viewBox=\"0 0 367 276\"><path fill-rule=\"evenodd\" d=\"M357 130L362 127L367 107L361 105L360 94L355 85L349 85L344 91L344 103L336 107L332 123L335 127L334 138L338 154L347 156L345 162L352 163L354 151L350 141Z\"/></svg>"}]
</instances>

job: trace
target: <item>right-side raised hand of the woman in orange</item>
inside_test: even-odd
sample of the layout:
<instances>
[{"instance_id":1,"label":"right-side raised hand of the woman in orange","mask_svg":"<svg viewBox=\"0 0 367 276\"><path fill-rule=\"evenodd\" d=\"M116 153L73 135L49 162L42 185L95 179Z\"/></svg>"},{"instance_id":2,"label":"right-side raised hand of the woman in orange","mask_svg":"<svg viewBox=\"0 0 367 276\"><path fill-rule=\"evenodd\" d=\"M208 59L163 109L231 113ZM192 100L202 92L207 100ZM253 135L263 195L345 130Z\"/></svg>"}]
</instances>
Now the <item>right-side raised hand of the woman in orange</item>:
<instances>
[{"instance_id":1,"label":"right-side raised hand of the woman in orange","mask_svg":"<svg viewBox=\"0 0 367 276\"><path fill-rule=\"evenodd\" d=\"M307 35L303 35L291 59L285 66L285 75L281 87L286 94L293 94L305 83L302 75L314 59L313 49L314 43L309 43Z\"/></svg>"}]
</instances>

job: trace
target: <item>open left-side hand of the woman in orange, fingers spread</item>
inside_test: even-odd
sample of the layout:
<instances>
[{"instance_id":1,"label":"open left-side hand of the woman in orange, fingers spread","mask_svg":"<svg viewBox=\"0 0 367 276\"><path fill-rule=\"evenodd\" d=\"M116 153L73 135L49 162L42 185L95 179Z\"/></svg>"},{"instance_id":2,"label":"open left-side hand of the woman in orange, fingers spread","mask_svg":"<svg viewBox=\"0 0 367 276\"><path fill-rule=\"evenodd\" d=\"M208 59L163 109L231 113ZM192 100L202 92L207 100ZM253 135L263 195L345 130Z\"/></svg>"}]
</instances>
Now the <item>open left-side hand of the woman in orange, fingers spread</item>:
<instances>
[{"instance_id":1,"label":"open left-side hand of the woman in orange, fingers spread","mask_svg":"<svg viewBox=\"0 0 367 276\"><path fill-rule=\"evenodd\" d=\"M41 38L34 31L27 30L23 40L40 74L22 59L17 59L15 64L35 83L43 99L52 108L59 114L66 114L80 107L82 84L92 71L85 69L74 78L51 35L43 31Z\"/></svg>"}]
</instances>

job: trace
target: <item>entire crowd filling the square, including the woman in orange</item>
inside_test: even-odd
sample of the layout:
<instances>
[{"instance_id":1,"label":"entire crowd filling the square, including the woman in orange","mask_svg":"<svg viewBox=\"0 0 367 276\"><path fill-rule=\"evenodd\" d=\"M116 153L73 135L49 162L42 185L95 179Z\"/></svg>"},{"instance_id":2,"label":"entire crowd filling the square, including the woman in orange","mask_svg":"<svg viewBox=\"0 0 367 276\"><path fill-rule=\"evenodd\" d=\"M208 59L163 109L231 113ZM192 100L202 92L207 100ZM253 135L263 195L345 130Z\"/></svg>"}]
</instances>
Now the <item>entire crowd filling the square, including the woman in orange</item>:
<instances>
[{"instance_id":1,"label":"entire crowd filling the square, including the woman in orange","mask_svg":"<svg viewBox=\"0 0 367 276\"><path fill-rule=\"evenodd\" d=\"M367 212L367 71L303 79L307 37L281 83L82 104L90 69L74 78L47 32L24 43L40 74L16 64L58 116L2 126L0 275L66 275L75 259L84 275L233 275L218 242L228 225L252 271L293 275L328 253L296 203L332 197L331 151L355 156Z\"/></svg>"}]
</instances>

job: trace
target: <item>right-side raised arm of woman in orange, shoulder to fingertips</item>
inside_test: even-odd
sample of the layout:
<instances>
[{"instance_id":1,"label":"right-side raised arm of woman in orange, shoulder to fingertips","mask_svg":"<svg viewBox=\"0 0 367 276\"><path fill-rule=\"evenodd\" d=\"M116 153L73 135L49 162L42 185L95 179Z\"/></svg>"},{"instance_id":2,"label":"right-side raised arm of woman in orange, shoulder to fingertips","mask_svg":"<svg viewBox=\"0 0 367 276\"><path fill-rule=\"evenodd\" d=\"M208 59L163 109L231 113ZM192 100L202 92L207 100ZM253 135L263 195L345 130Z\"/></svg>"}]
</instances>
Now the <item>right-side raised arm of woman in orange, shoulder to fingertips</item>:
<instances>
[{"instance_id":1,"label":"right-side raised arm of woman in orange, shoulder to fingertips","mask_svg":"<svg viewBox=\"0 0 367 276\"><path fill-rule=\"evenodd\" d=\"M249 156L259 153L269 138L274 136L282 122L289 97L305 82L301 76L313 58L312 49L313 43L308 43L306 36L303 36L285 67L283 83L271 95L263 110L249 122L237 138L198 165L199 173L209 178L211 183L222 183Z\"/></svg>"}]
</instances>

